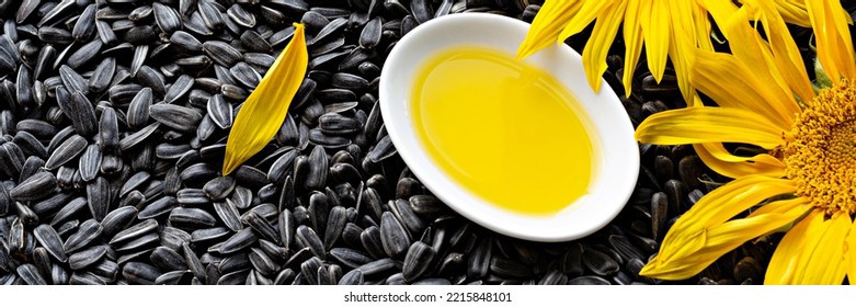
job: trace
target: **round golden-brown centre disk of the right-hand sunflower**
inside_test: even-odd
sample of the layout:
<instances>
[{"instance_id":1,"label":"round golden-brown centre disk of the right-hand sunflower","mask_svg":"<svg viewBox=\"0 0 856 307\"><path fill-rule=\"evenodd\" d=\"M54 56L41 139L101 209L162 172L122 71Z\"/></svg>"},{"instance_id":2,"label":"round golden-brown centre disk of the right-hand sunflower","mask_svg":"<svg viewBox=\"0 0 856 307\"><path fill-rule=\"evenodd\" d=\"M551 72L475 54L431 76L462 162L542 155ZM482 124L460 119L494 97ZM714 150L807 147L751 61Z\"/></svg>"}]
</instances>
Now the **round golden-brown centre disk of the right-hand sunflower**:
<instances>
[{"instance_id":1,"label":"round golden-brown centre disk of the right-hand sunflower","mask_svg":"<svg viewBox=\"0 0 856 307\"><path fill-rule=\"evenodd\" d=\"M828 215L856 212L856 82L821 91L794 122L784 148L797 195Z\"/></svg>"}]
</instances>

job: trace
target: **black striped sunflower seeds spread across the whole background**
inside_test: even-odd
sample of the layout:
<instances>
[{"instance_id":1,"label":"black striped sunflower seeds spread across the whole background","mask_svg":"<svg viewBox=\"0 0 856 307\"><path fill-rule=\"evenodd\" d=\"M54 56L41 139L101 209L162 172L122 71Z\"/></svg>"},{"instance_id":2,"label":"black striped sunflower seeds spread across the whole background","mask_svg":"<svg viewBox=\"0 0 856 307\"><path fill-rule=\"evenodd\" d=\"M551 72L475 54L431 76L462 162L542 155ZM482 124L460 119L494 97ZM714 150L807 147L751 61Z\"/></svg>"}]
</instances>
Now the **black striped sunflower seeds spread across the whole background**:
<instances>
[{"instance_id":1,"label":"black striped sunflower seeds spread across the whole background","mask_svg":"<svg viewBox=\"0 0 856 307\"><path fill-rule=\"evenodd\" d=\"M538 243L450 211L387 136L377 86L399 38L453 13L530 22L541 2L0 0L0 284L661 283L638 273L722 180L692 148L641 146L618 218ZM293 22L307 77L275 139L222 177L235 115ZM637 77L619 93L635 124L684 105L672 72ZM773 245L681 283L758 283Z\"/></svg>"}]
</instances>

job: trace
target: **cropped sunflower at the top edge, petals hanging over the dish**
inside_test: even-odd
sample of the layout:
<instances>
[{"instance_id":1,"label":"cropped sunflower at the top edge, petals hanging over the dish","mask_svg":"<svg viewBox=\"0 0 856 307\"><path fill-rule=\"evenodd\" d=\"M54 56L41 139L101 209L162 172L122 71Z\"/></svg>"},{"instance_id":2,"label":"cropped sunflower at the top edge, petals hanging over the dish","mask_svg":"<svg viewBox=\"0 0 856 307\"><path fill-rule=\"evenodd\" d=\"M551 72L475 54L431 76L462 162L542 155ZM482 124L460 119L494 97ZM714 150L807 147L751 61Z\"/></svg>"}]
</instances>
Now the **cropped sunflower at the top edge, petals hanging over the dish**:
<instances>
[{"instance_id":1,"label":"cropped sunflower at the top edge, petals hanging over the dish","mask_svg":"<svg viewBox=\"0 0 856 307\"><path fill-rule=\"evenodd\" d=\"M787 22L809 25L802 0L773 2ZM658 83L662 80L666 60L671 59L681 92L686 101L692 101L695 91L688 83L688 56L697 47L714 49L708 13L720 23L734 11L737 5L731 0L546 0L520 46L517 57L535 54L556 43L557 37L561 43L596 20L582 58L589 84L598 91L601 76L607 67L606 55L624 22L625 64L621 82L625 92L630 93L634 72L644 44L648 68L654 80Z\"/></svg>"}]
</instances>

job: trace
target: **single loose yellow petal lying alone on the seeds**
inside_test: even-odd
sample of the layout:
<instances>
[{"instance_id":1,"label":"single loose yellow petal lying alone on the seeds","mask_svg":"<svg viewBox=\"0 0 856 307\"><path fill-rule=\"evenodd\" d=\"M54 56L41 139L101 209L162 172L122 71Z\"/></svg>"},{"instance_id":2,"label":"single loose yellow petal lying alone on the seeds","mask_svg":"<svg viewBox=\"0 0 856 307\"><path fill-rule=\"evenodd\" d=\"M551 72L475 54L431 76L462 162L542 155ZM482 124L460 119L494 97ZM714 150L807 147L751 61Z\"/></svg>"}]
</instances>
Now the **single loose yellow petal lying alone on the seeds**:
<instances>
[{"instance_id":1,"label":"single loose yellow petal lying alone on the seeds","mask_svg":"<svg viewBox=\"0 0 856 307\"><path fill-rule=\"evenodd\" d=\"M285 120L292 98L306 75L309 54L304 25L295 23L292 42L243 102L226 141L222 174L227 175L271 141Z\"/></svg>"}]
</instances>

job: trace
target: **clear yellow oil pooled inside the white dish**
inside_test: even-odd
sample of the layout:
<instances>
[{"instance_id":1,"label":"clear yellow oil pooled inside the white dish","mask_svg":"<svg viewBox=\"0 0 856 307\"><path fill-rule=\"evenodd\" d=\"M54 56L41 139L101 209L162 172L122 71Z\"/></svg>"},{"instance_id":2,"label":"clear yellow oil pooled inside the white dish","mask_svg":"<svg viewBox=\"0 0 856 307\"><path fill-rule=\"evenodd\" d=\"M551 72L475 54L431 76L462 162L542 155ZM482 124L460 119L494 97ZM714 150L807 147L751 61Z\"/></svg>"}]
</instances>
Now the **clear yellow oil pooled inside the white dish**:
<instances>
[{"instance_id":1,"label":"clear yellow oil pooled inside the white dish","mask_svg":"<svg viewBox=\"0 0 856 307\"><path fill-rule=\"evenodd\" d=\"M557 213L597 170L591 123L552 76L500 50L455 47L416 71L411 107L429 157L502 208Z\"/></svg>"}]
</instances>

